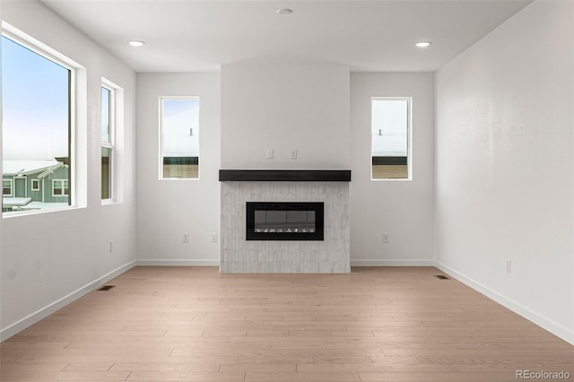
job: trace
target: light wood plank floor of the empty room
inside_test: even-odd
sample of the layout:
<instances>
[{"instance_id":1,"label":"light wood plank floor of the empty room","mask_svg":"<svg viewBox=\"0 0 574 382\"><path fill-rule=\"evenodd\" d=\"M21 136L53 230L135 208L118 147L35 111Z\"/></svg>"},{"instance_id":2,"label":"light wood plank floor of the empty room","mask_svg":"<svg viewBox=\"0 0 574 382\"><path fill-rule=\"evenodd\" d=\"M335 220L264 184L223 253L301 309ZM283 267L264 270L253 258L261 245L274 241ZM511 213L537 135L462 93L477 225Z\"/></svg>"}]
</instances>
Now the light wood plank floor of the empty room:
<instances>
[{"instance_id":1,"label":"light wood plank floor of the empty room","mask_svg":"<svg viewBox=\"0 0 574 382\"><path fill-rule=\"evenodd\" d=\"M514 381L574 347L431 267L136 267L0 344L0 379Z\"/></svg>"}]
</instances>

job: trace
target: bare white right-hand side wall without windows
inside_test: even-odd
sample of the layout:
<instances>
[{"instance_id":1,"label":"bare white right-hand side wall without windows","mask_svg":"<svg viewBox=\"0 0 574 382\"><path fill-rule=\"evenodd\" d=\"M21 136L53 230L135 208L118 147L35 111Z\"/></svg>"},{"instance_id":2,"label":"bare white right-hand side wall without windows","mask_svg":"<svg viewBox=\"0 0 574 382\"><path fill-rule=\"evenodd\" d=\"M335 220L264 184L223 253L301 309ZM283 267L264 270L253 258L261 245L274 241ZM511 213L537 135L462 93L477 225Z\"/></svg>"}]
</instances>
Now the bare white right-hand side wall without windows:
<instances>
[{"instance_id":1,"label":"bare white right-hand side wall without windows","mask_svg":"<svg viewBox=\"0 0 574 382\"><path fill-rule=\"evenodd\" d=\"M570 343L573 5L528 5L436 75L438 265Z\"/></svg>"}]
</instances>

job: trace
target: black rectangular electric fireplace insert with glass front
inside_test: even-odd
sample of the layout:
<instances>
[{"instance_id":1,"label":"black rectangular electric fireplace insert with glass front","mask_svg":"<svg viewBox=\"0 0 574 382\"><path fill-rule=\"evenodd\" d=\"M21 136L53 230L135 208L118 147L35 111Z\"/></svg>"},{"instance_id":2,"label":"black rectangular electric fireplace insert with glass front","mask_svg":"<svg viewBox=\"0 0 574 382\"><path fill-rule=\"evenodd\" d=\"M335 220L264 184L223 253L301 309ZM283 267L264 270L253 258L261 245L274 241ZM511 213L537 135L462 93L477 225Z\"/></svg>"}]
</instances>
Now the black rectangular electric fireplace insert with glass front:
<instances>
[{"instance_id":1,"label":"black rectangular electric fireplace insert with glass front","mask_svg":"<svg viewBox=\"0 0 574 382\"><path fill-rule=\"evenodd\" d=\"M247 240L323 240L324 204L247 202Z\"/></svg>"}]
</instances>

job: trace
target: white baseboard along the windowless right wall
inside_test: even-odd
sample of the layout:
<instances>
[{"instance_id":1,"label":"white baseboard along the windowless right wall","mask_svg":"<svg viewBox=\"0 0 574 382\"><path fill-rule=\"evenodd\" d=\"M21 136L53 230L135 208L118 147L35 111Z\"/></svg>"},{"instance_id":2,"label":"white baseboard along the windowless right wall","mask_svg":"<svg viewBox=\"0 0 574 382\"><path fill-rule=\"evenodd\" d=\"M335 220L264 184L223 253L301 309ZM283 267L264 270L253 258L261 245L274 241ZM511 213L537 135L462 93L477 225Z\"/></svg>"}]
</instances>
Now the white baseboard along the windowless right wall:
<instances>
[{"instance_id":1,"label":"white baseboard along the windowless right wall","mask_svg":"<svg viewBox=\"0 0 574 382\"><path fill-rule=\"evenodd\" d=\"M434 266L439 268L442 272L448 273L448 275L457 279L459 282L463 282L465 285L473 288L475 291L482 293L489 299L498 302L503 307L509 308L518 315L525 317L529 321L532 321L537 326L540 326L543 329L549 331L550 333L560 337L562 340L574 344L574 332L569 328L553 322L551 319L548 319L530 310L529 308L526 308L525 306L517 303L514 300L510 300L506 296L501 295L499 292L491 290L489 287L483 285L480 282L476 282L469 277L466 277L462 273L458 273L456 270L440 263L439 261L435 261Z\"/></svg>"}]
</instances>

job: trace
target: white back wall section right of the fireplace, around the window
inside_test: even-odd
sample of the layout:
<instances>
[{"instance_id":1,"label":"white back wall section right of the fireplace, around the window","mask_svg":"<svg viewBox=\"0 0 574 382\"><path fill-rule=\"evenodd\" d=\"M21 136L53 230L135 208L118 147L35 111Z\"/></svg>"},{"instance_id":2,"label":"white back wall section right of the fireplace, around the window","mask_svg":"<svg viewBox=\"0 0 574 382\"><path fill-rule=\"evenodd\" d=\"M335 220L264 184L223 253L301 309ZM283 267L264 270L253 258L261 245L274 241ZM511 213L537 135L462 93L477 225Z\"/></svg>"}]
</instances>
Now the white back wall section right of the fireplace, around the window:
<instances>
[{"instance_id":1,"label":"white back wall section right of the fireplace, around the window","mask_svg":"<svg viewBox=\"0 0 574 382\"><path fill-rule=\"evenodd\" d=\"M371 97L413 97L413 180L370 180ZM433 126L433 74L351 74L352 265L432 265Z\"/></svg>"}]
</instances>

